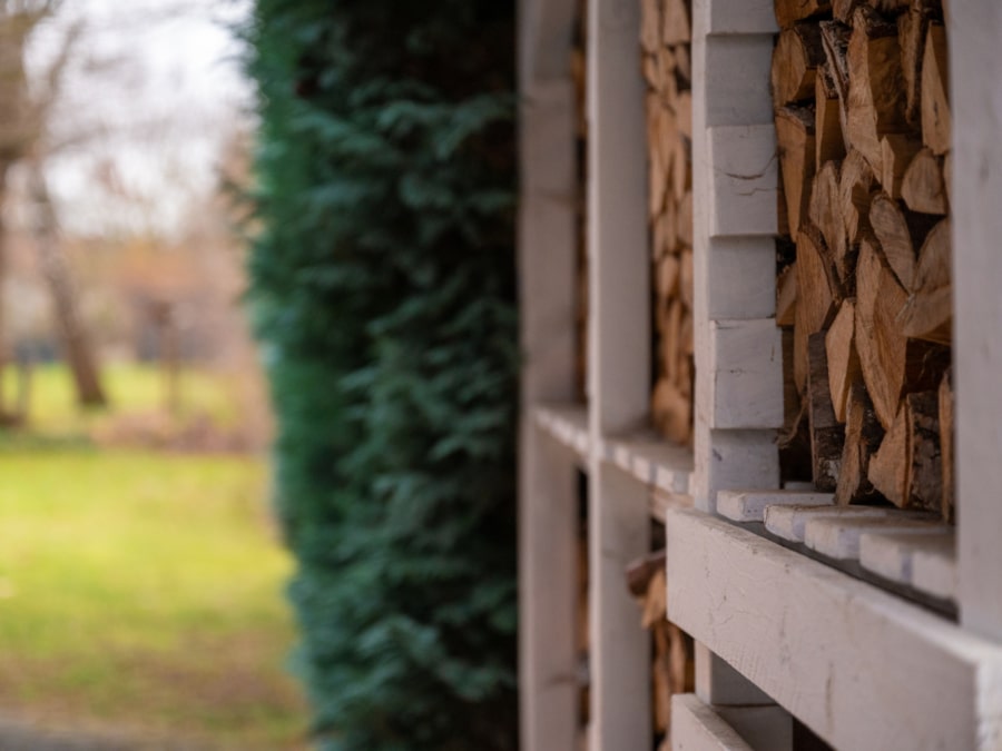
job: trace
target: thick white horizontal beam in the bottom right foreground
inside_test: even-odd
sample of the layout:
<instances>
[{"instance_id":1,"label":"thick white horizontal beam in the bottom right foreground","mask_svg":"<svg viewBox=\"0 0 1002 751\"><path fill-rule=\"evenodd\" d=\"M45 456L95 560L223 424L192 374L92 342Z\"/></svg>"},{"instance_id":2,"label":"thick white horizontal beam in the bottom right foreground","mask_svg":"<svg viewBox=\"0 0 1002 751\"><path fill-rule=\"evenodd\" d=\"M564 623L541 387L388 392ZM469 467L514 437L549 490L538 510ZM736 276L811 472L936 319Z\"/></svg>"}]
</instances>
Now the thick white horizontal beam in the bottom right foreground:
<instances>
[{"instance_id":1,"label":"thick white horizontal beam in the bottom right foreground","mask_svg":"<svg viewBox=\"0 0 1002 751\"><path fill-rule=\"evenodd\" d=\"M672 510L668 617L838 749L996 749L1002 646L723 520Z\"/></svg>"}]
</instances>

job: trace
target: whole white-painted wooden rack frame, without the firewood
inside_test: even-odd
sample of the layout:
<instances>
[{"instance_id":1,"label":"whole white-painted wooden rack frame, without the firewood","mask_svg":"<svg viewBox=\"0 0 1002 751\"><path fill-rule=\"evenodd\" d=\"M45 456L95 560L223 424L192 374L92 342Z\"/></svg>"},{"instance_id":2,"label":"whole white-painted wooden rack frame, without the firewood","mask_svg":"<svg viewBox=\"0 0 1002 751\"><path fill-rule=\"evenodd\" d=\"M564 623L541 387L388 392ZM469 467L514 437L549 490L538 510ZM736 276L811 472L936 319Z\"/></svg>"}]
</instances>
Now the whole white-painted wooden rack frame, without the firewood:
<instances>
[{"instance_id":1,"label":"whole white-painted wooden rack frame, without the firewood","mask_svg":"<svg viewBox=\"0 0 1002 751\"><path fill-rule=\"evenodd\" d=\"M522 0L522 748L571 751L581 696L577 474L588 477L589 751L650 744L649 641L623 570L667 536L668 615L697 640L671 744L1002 749L1002 3L951 4L956 528L782 488L773 0L692 2L694 448L648 424L640 0L587 0L588 406L574 398L576 0Z\"/></svg>"}]
</instances>

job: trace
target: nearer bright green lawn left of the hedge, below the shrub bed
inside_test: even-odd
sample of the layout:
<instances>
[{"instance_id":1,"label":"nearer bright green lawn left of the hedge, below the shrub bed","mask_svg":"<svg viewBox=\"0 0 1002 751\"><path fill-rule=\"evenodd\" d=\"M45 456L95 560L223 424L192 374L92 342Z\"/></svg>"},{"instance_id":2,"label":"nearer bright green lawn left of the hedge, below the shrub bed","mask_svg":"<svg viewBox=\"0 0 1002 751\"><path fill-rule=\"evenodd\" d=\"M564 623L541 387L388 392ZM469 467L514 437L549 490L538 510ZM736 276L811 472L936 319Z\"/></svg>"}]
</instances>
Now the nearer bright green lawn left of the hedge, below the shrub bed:
<instances>
[{"instance_id":1,"label":"nearer bright green lawn left of the hedge, below the shrub bed","mask_svg":"<svg viewBox=\"0 0 1002 751\"><path fill-rule=\"evenodd\" d=\"M305 748L261 460L0 452L0 710Z\"/></svg>"}]
</instances>

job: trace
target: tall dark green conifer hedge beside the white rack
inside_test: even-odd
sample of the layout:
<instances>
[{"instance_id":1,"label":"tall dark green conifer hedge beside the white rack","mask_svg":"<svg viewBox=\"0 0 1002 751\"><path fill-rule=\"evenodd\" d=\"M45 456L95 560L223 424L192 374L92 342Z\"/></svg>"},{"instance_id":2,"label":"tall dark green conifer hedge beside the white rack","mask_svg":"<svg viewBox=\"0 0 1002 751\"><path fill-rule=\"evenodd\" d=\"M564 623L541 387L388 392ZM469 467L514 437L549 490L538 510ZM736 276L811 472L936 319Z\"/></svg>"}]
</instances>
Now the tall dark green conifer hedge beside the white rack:
<instances>
[{"instance_id":1,"label":"tall dark green conifer hedge beside the white rack","mask_svg":"<svg viewBox=\"0 0 1002 751\"><path fill-rule=\"evenodd\" d=\"M256 0L249 299L330 750L515 747L513 3Z\"/></svg>"}]
</instances>

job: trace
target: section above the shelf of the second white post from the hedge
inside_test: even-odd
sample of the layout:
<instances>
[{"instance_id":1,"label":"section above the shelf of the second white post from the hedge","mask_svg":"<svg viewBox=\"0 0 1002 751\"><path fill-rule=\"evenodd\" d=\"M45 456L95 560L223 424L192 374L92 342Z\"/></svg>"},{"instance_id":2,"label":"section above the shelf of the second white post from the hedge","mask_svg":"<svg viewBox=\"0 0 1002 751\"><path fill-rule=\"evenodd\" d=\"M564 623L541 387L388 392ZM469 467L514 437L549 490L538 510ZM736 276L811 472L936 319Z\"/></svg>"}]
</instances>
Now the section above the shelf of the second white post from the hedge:
<instances>
[{"instance_id":1,"label":"section above the shelf of the second white post from the hedge","mask_svg":"<svg viewBox=\"0 0 1002 751\"><path fill-rule=\"evenodd\" d=\"M588 2L588 398L595 438L650 411L650 251L640 3Z\"/></svg>"}]
</instances>

